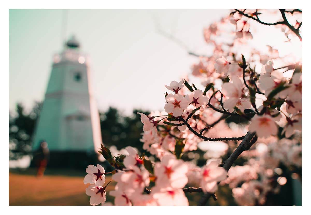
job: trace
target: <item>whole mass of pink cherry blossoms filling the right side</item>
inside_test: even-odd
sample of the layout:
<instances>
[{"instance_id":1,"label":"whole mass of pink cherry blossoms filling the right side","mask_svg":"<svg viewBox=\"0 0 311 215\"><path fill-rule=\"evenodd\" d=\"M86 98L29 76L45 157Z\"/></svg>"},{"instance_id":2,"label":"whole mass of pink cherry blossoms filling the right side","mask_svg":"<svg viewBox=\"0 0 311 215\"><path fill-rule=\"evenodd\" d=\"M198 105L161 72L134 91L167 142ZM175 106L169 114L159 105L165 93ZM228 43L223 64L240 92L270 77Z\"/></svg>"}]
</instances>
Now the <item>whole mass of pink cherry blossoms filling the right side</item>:
<instances>
[{"instance_id":1,"label":"whole mass of pink cherry blossoms filling the right side","mask_svg":"<svg viewBox=\"0 0 311 215\"><path fill-rule=\"evenodd\" d=\"M253 48L244 53L247 57L236 51L253 39L248 14L258 19L257 10L236 9L204 29L206 43L214 46L213 54L200 56L191 67L201 89L190 84L188 77L172 81L165 85L164 111L137 112L143 123L144 153L127 147L126 153L112 155L102 145L101 154L115 168L112 180L116 185L109 193L114 205L187 206L189 186L208 195L225 184L237 204L263 205L267 194L277 193L286 183L280 166L295 174L301 170L301 59L281 58L272 46L267 53ZM219 43L216 38L228 34L227 25L233 27L232 43ZM284 26L281 31L292 39L300 36L296 28L298 33ZM240 151L239 157L243 166L222 161L230 157L227 153L239 150L247 135L252 135L249 148ZM193 152L204 146L207 152L195 159ZM202 157L204 164L199 165ZM90 165L86 172L84 182L92 184L86 189L90 203L103 204L103 167Z\"/></svg>"}]
</instances>

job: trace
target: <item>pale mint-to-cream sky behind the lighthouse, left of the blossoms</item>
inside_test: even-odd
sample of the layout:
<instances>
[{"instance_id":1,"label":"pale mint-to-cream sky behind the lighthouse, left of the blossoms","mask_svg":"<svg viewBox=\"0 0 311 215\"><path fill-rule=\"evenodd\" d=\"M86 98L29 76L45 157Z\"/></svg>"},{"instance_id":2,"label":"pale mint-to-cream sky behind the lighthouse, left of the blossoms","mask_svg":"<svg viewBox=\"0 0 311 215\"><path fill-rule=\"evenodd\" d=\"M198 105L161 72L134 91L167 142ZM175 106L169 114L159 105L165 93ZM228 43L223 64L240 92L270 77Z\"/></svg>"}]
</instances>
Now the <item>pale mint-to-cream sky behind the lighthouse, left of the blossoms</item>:
<instances>
[{"instance_id":1,"label":"pale mint-to-cream sky behind the lighthouse, left of the blossoms","mask_svg":"<svg viewBox=\"0 0 311 215\"><path fill-rule=\"evenodd\" d=\"M29 110L44 99L53 55L75 35L91 58L91 80L100 110L126 114L133 108L163 110L165 84L179 81L196 57L158 29L183 41L191 51L208 52L203 28L229 10L10 10L9 109ZM66 21L67 17L67 21ZM67 26L67 27L66 27Z\"/></svg>"}]
</instances>

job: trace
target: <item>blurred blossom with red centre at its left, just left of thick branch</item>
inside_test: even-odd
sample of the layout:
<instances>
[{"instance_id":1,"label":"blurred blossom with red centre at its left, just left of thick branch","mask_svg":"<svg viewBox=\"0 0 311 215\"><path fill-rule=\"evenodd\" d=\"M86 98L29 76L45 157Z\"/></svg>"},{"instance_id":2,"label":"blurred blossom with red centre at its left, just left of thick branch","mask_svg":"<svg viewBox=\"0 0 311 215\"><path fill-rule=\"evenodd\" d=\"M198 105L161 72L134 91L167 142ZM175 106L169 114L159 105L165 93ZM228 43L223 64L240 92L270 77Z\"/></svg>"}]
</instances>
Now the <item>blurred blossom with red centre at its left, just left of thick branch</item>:
<instances>
[{"instance_id":1,"label":"blurred blossom with red centre at its left, just left of thick branch","mask_svg":"<svg viewBox=\"0 0 311 215\"><path fill-rule=\"evenodd\" d=\"M204 192L214 193L217 183L227 178L227 171L219 167L220 160L209 160L201 170L201 187Z\"/></svg>"}]
</instances>

